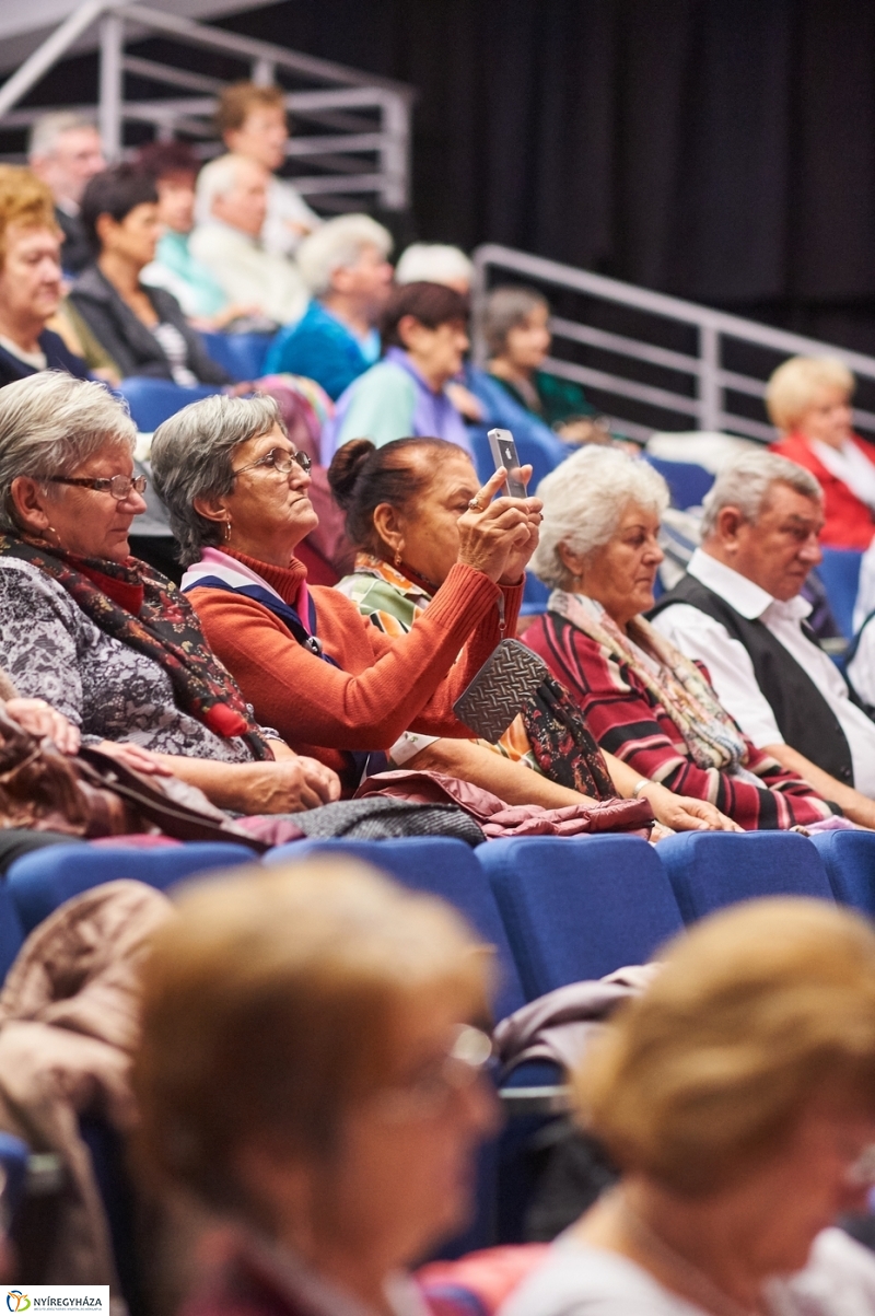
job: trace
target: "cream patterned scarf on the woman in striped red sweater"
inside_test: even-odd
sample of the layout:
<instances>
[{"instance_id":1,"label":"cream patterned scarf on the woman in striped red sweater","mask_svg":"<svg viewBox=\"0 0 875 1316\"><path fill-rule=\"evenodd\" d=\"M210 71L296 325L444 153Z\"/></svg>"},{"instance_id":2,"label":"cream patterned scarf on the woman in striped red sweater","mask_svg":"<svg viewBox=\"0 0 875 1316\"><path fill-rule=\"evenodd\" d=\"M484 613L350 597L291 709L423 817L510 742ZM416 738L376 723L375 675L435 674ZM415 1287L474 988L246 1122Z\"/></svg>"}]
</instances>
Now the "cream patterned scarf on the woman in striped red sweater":
<instances>
[{"instance_id":1,"label":"cream patterned scarf on the woman in striped red sweater","mask_svg":"<svg viewBox=\"0 0 875 1316\"><path fill-rule=\"evenodd\" d=\"M743 766L747 746L734 721L696 665L649 621L634 617L624 634L600 603L564 590L553 591L547 609L629 665L680 732L696 767L734 772Z\"/></svg>"}]
</instances>

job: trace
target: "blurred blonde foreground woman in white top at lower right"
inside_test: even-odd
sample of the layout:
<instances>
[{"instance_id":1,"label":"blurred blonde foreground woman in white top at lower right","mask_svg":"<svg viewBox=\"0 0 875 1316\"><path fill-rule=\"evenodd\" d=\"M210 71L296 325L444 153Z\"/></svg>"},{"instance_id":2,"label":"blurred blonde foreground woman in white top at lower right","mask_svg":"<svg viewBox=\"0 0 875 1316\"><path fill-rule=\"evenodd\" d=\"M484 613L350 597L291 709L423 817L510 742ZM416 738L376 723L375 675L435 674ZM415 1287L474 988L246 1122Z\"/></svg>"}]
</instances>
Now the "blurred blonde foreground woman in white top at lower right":
<instances>
[{"instance_id":1,"label":"blurred blonde foreground woman in white top at lower right","mask_svg":"<svg viewBox=\"0 0 875 1316\"><path fill-rule=\"evenodd\" d=\"M576 1079L620 1184L501 1316L863 1316L875 1257L830 1228L875 1182L875 933L814 900L668 948Z\"/></svg>"}]
</instances>

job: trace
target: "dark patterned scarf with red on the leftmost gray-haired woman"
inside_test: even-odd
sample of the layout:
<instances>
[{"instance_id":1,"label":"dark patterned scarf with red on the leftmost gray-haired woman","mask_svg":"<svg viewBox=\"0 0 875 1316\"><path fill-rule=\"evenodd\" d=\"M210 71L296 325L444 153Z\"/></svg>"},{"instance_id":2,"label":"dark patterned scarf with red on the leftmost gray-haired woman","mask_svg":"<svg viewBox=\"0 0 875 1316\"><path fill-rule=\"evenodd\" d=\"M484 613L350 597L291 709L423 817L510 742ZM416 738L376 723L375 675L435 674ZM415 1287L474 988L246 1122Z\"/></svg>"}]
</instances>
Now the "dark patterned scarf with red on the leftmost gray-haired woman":
<instances>
[{"instance_id":1,"label":"dark patterned scarf with red on the leftmost gray-haired woman","mask_svg":"<svg viewBox=\"0 0 875 1316\"><path fill-rule=\"evenodd\" d=\"M216 736L242 737L258 759L272 753L230 672L211 650L191 603L172 580L137 558L80 558L12 534L0 554L38 567L113 640L167 672L176 705Z\"/></svg>"}]
</instances>

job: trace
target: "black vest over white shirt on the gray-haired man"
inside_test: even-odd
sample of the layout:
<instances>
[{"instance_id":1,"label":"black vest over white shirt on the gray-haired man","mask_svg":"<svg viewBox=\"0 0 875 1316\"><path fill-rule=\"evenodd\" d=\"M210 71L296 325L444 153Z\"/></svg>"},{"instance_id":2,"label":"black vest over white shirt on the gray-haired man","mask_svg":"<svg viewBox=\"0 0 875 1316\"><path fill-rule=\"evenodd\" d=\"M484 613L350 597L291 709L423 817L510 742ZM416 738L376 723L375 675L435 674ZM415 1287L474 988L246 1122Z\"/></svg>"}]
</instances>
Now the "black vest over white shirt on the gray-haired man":
<instances>
[{"instance_id":1,"label":"black vest over white shirt on the gray-haired man","mask_svg":"<svg viewBox=\"0 0 875 1316\"><path fill-rule=\"evenodd\" d=\"M672 603L692 604L720 621L745 646L754 665L757 684L771 704L784 741L824 772L853 786L851 751L836 713L768 626L763 621L742 617L725 599L691 575L683 576L674 590L663 594L647 616L655 617ZM804 630L817 644L813 632L807 626Z\"/></svg>"}]
</instances>

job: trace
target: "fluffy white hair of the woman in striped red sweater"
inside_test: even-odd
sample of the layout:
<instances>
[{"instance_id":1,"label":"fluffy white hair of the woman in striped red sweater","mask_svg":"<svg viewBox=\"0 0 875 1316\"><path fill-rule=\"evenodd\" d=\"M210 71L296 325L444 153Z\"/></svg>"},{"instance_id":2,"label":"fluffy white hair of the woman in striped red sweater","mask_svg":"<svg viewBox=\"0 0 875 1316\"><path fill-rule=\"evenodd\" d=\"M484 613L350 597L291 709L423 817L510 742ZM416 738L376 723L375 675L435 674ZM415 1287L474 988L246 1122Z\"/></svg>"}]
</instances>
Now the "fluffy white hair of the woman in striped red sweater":
<instances>
[{"instance_id":1,"label":"fluffy white hair of the woman in striped red sweater","mask_svg":"<svg viewBox=\"0 0 875 1316\"><path fill-rule=\"evenodd\" d=\"M545 584L562 590L568 570L561 546L584 557L603 547L617 533L629 503L661 517L668 507L668 486L643 458L591 443L541 480L538 497L543 521L530 566Z\"/></svg>"}]
</instances>

